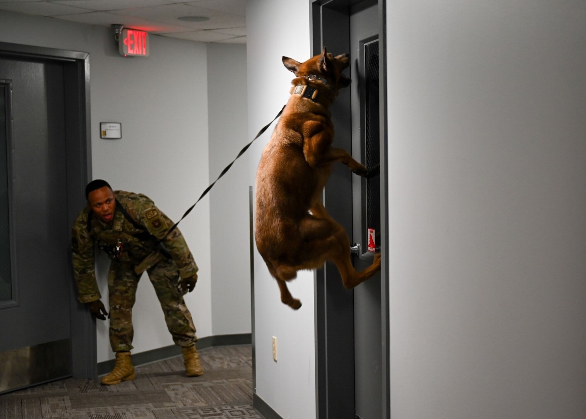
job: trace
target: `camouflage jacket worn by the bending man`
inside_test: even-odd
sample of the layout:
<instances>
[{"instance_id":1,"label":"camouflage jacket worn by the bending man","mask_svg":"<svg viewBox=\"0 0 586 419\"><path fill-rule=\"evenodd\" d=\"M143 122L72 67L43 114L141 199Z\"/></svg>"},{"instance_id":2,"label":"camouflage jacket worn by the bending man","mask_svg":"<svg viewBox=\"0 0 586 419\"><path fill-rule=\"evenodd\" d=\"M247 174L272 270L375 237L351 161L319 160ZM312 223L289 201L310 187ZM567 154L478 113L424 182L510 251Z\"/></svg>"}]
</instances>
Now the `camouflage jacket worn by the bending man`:
<instances>
[{"instance_id":1,"label":"camouflage jacket worn by the bending man","mask_svg":"<svg viewBox=\"0 0 586 419\"><path fill-rule=\"evenodd\" d=\"M197 265L178 228L156 246L173 225L154 202L142 194L114 191L117 200L112 224L105 225L86 207L77 216L71 231L71 259L77 283L77 298L89 303L101 298L94 268L94 243L106 251L111 259L127 263L135 272L142 273L163 258L171 258L179 266L182 278L193 276ZM130 217L125 217L124 211ZM122 245L120 256L111 255L113 246Z\"/></svg>"}]
</instances>

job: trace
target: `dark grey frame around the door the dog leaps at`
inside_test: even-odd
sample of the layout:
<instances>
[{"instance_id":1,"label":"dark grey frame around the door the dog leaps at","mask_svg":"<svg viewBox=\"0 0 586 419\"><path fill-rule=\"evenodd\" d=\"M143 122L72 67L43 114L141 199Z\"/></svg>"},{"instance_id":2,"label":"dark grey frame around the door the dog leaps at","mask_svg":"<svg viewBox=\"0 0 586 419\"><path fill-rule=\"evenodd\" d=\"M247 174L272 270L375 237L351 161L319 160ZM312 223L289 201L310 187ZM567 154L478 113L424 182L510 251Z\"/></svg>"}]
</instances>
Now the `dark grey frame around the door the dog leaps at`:
<instances>
[{"instance_id":1,"label":"dark grey frame around the door the dog leaps at","mask_svg":"<svg viewBox=\"0 0 586 419\"><path fill-rule=\"evenodd\" d=\"M309 32L311 55L321 53L326 45L329 52L342 53L349 50L349 11L350 6L359 3L356 0L309 0ZM378 0L379 5L379 97L380 97L380 205L381 205L381 367L383 379L383 418L390 419L390 353L389 353L389 193L388 193L388 139L387 139L387 42L386 42L386 0ZM327 11L325 9L328 9ZM325 19L335 19L336 25L329 25ZM330 20L331 22L331 20ZM333 122L336 127L335 141L338 146L351 150L344 140L348 119L338 112L350 109L349 95L342 91L332 105ZM340 136L342 134L342 136ZM347 134L349 136L349 134ZM343 168L346 169L346 168ZM332 174L351 177L348 170ZM352 185L351 181L349 183ZM336 221L352 234L352 214L343 214L336 205L352 202L352 192L340 194L329 190L326 185L323 202ZM326 281L327 278L327 281ZM316 417L320 419L354 419L355 384L354 384L354 333L353 333L353 293L343 289L335 266L326 263L324 269L314 273L315 298L315 392ZM328 322L328 319L331 319ZM352 327L347 327L352 325ZM335 350L329 350L335 348Z\"/></svg>"}]
</instances>

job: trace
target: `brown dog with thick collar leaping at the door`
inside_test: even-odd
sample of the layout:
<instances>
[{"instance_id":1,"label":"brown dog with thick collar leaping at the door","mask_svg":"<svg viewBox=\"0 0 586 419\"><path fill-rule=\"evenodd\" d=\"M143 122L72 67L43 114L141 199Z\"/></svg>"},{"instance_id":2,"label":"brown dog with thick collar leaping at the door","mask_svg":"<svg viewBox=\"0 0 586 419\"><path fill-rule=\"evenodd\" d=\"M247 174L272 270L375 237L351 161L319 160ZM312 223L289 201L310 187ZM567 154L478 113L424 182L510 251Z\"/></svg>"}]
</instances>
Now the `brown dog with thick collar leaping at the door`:
<instances>
[{"instance_id":1,"label":"brown dog with thick collar leaping at the door","mask_svg":"<svg viewBox=\"0 0 586 419\"><path fill-rule=\"evenodd\" d=\"M332 163L341 161L361 176L368 173L347 151L331 146L328 107L338 89L350 85L342 75L349 56L333 56L323 48L321 55L304 63L282 60L295 74L294 87L258 165L254 236L268 271L277 279L281 301L297 310L301 302L285 282L297 271L320 268L329 260L338 267L344 286L354 288L380 270L380 254L369 268L357 272L346 232L321 202Z\"/></svg>"}]
</instances>

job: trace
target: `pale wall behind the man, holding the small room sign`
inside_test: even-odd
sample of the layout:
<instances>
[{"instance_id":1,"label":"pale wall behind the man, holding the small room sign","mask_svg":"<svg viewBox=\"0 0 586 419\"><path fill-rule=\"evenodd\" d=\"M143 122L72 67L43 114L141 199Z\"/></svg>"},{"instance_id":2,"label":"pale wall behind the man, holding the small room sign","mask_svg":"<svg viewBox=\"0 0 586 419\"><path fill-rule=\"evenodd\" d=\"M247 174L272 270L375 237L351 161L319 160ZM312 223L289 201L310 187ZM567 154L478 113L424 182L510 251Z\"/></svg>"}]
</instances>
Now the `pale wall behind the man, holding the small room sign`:
<instances>
[{"instance_id":1,"label":"pale wall behind the man, holding the small room sign","mask_svg":"<svg viewBox=\"0 0 586 419\"><path fill-rule=\"evenodd\" d=\"M26 28L26 30L23 30ZM110 28L0 12L0 40L90 53L93 177L142 192L179 219L209 182L206 45L151 36L151 56L118 55ZM100 121L122 123L121 140L101 140ZM212 334L209 200L180 225L200 267L186 296L197 336ZM107 274L98 267L107 303ZM147 276L133 310L134 352L173 344ZM98 361L112 359L108 323L98 321Z\"/></svg>"}]
</instances>

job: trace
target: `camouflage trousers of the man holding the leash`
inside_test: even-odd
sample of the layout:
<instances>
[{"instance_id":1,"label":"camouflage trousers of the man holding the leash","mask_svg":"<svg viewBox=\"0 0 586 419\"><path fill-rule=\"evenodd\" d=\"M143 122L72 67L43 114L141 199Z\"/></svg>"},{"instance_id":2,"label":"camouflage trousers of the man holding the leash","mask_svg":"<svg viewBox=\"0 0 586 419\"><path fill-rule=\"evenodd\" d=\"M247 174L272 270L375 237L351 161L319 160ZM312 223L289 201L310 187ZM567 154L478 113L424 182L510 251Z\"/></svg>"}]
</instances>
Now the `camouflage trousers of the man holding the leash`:
<instances>
[{"instance_id":1,"label":"camouflage trousers of the man holding the leash","mask_svg":"<svg viewBox=\"0 0 586 419\"><path fill-rule=\"evenodd\" d=\"M197 337L191 313L177 287L178 266L171 259L163 259L148 269L147 273L161 303L173 342L183 347L192 345ZM134 337L132 306L136 299L140 277L141 275L134 272L132 265L117 261L110 263L110 272L108 272L110 344L114 352L132 349Z\"/></svg>"}]
</instances>

